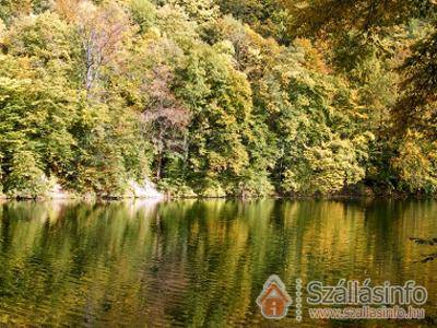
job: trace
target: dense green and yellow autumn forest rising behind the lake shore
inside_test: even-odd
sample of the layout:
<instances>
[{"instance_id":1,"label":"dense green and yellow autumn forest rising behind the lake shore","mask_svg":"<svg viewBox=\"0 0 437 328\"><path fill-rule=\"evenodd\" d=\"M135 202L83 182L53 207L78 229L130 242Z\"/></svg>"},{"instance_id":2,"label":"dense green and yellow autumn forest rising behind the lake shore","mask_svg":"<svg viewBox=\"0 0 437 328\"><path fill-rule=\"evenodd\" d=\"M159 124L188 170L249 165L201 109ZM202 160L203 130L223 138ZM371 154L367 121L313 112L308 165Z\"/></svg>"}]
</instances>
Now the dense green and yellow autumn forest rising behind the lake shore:
<instances>
[{"instance_id":1,"label":"dense green and yellow autumn forest rising behind the lake shore","mask_svg":"<svg viewBox=\"0 0 437 328\"><path fill-rule=\"evenodd\" d=\"M0 194L437 194L436 0L1 0Z\"/></svg>"}]
</instances>

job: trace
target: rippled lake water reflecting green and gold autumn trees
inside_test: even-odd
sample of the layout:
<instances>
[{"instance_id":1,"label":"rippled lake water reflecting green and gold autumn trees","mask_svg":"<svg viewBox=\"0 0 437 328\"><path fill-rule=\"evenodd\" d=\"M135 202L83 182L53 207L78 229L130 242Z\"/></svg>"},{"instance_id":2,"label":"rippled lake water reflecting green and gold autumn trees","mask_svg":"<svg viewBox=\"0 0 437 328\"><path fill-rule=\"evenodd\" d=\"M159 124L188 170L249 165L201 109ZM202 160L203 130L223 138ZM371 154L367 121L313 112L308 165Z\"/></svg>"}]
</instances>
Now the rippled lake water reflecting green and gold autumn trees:
<instances>
[{"instance_id":1,"label":"rippled lake water reflecting green and gold autumn trees","mask_svg":"<svg viewBox=\"0 0 437 328\"><path fill-rule=\"evenodd\" d=\"M172 201L0 204L0 326L435 326L436 201ZM421 323L264 319L279 274L427 288Z\"/></svg>"}]
</instances>

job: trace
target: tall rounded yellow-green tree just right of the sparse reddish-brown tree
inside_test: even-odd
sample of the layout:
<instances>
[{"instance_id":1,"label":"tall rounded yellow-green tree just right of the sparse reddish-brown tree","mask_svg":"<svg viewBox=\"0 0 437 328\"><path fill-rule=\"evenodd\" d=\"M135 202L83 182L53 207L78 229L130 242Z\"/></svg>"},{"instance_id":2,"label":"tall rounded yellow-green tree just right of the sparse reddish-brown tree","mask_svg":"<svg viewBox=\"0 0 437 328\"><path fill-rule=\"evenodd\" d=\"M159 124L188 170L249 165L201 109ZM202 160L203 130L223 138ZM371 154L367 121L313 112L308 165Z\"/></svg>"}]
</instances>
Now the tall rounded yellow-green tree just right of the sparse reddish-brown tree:
<instances>
[{"instance_id":1,"label":"tall rounded yellow-green tree just right of the sparse reddish-brown tree","mask_svg":"<svg viewBox=\"0 0 437 328\"><path fill-rule=\"evenodd\" d=\"M249 164L243 138L251 119L251 99L244 74L227 56L205 45L197 46L176 73L175 87L192 110L190 175L232 184Z\"/></svg>"}]
</instances>

